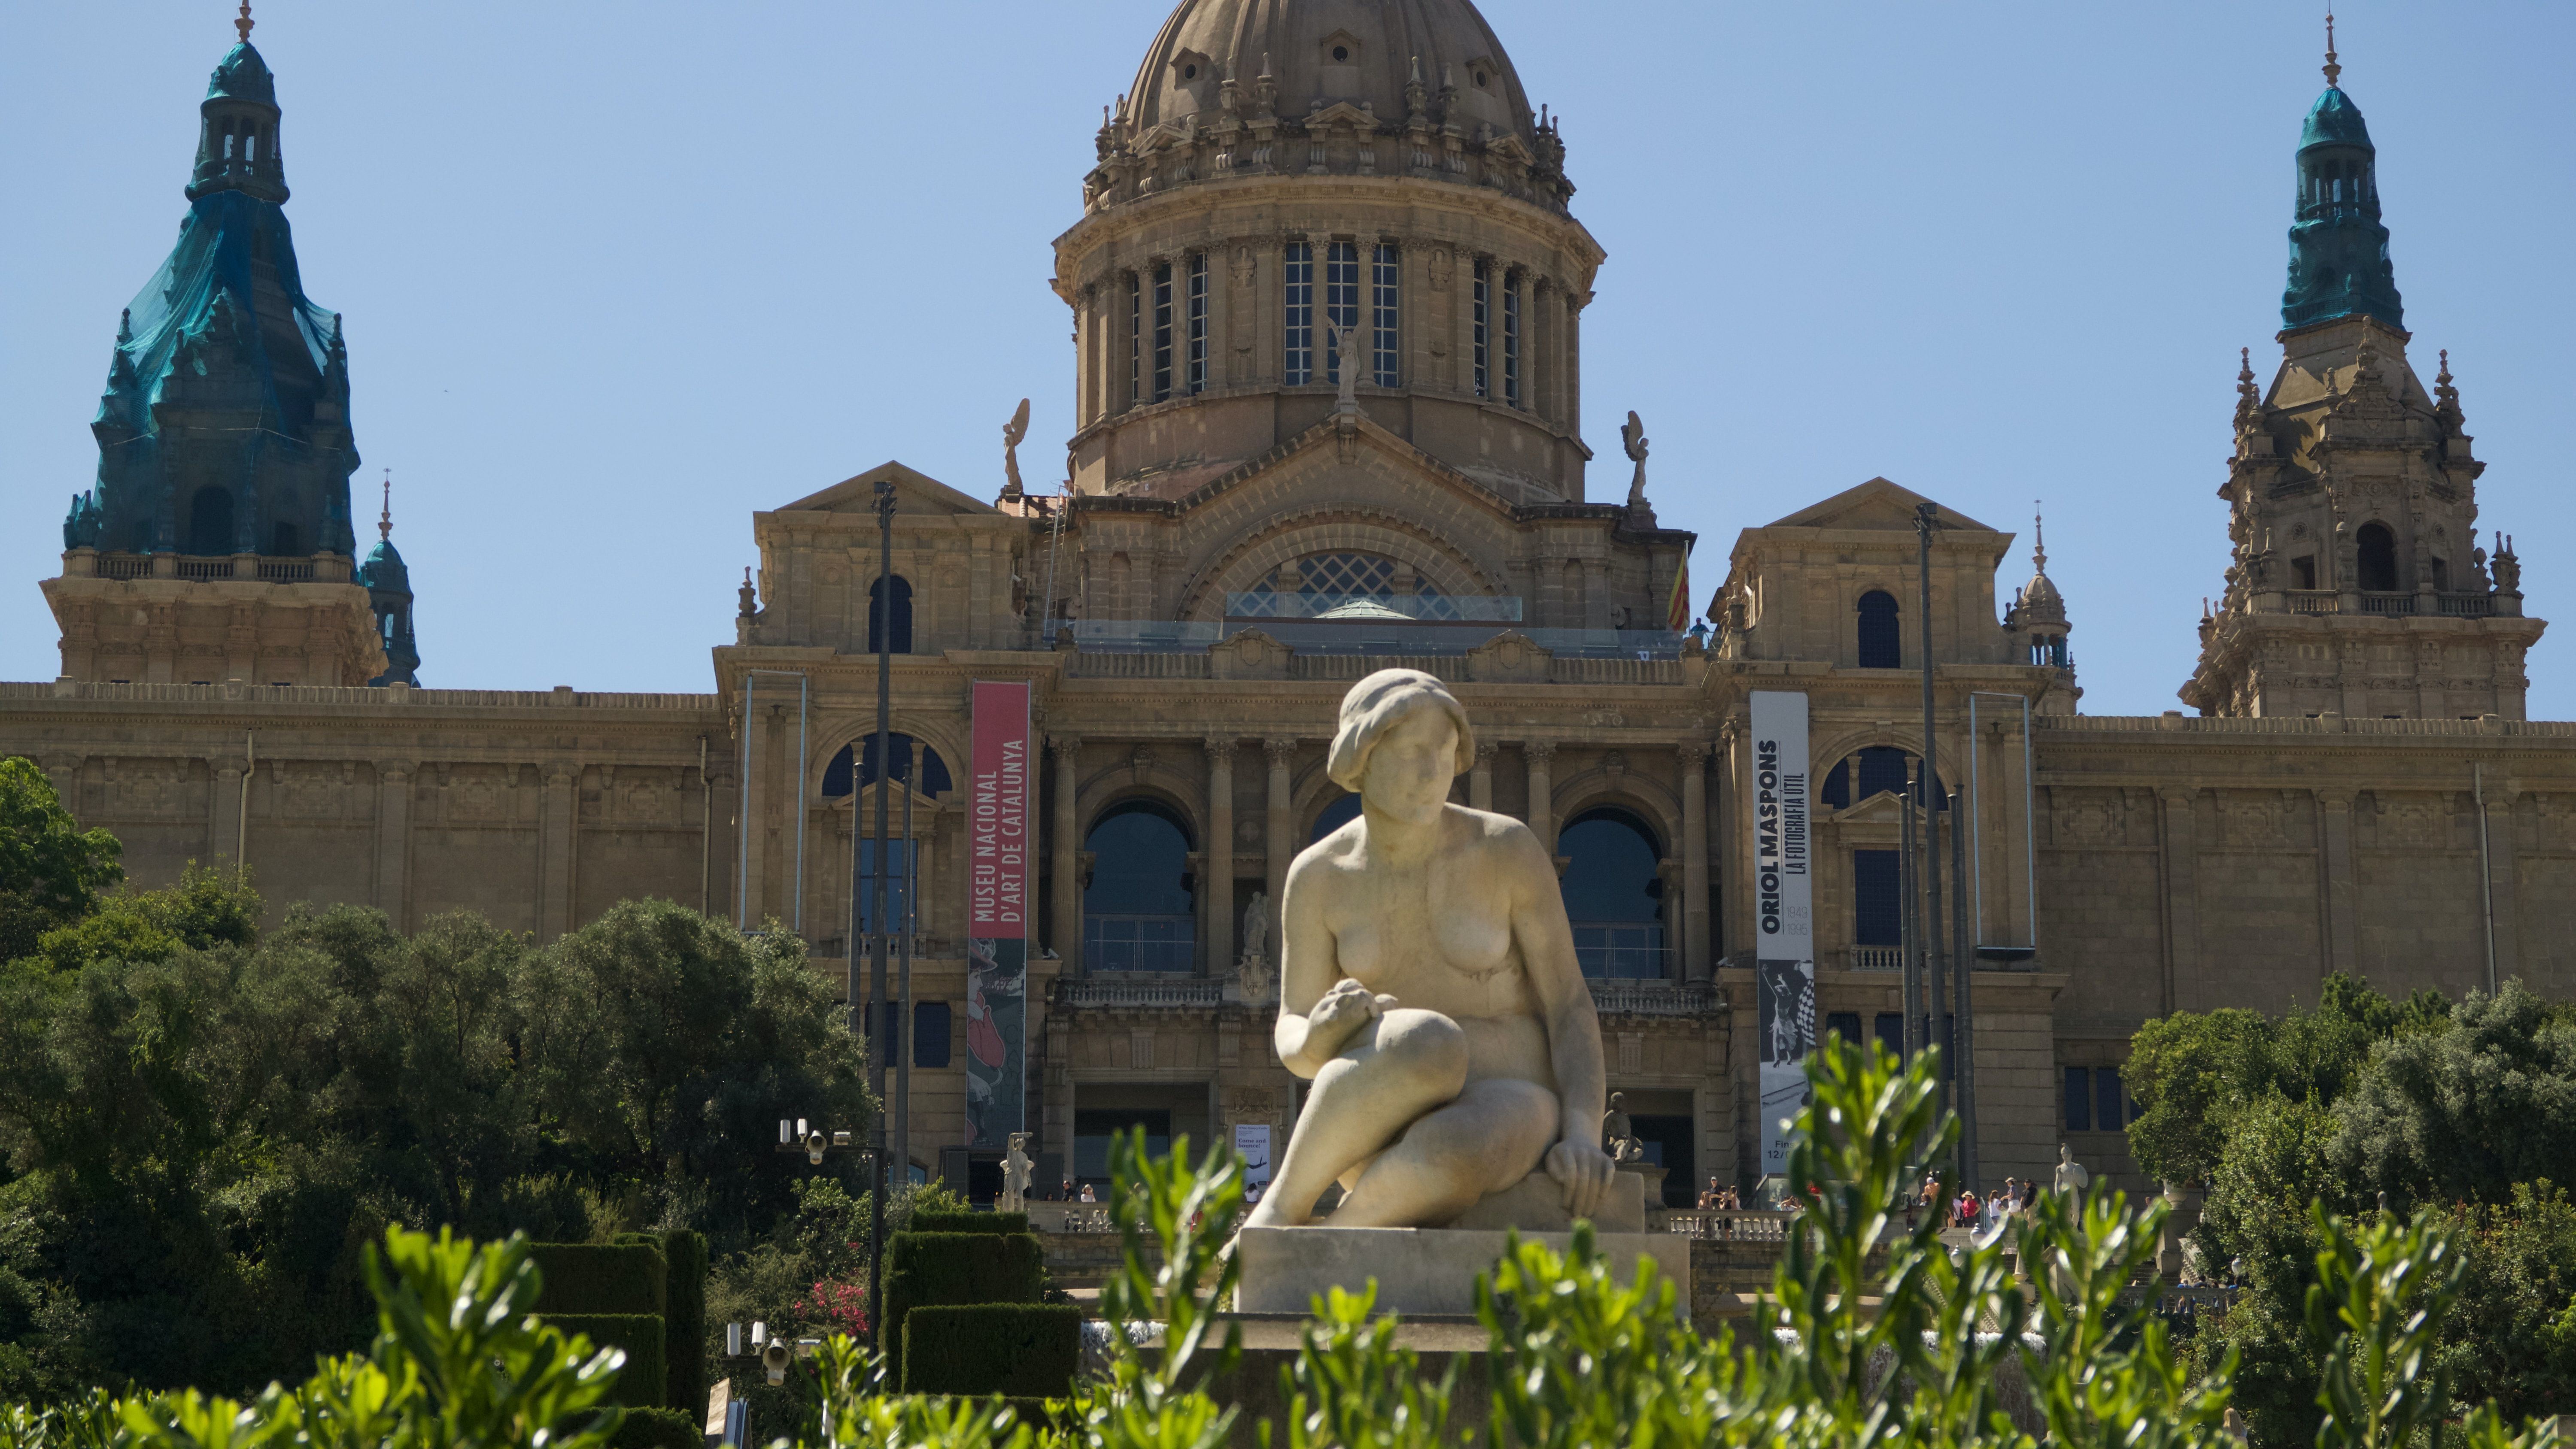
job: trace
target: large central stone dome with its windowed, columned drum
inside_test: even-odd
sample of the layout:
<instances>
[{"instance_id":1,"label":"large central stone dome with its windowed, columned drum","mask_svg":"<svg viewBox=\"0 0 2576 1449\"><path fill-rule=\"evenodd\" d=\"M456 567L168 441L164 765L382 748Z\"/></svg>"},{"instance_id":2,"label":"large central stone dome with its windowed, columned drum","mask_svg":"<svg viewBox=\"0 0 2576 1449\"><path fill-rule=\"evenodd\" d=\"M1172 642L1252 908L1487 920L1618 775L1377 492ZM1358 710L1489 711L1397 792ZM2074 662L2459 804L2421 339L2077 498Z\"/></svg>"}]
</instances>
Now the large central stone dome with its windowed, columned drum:
<instances>
[{"instance_id":1,"label":"large central stone dome with its windowed, columned drum","mask_svg":"<svg viewBox=\"0 0 2576 1449\"><path fill-rule=\"evenodd\" d=\"M1602 250L1468 0L1182 0L1097 157L1056 239L1077 492L1182 497L1332 417L1350 368L1502 499L1584 502Z\"/></svg>"}]
</instances>

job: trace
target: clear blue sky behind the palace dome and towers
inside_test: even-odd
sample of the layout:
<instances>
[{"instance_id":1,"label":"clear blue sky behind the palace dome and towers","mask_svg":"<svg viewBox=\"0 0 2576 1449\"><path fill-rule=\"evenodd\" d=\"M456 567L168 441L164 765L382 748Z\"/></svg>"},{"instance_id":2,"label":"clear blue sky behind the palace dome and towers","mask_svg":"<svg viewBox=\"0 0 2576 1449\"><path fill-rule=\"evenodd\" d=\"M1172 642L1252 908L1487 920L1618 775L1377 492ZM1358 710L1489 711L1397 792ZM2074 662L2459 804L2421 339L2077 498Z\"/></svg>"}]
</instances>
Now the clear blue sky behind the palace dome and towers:
<instances>
[{"instance_id":1,"label":"clear blue sky behind the palace dome and towers","mask_svg":"<svg viewBox=\"0 0 2576 1449\"><path fill-rule=\"evenodd\" d=\"M2087 713L2177 708L2221 592L2236 347L2277 358L2308 3L1489 0L1607 247L1595 497L1736 530L1873 474L2022 533L2048 499ZM886 458L999 489L1074 350L1048 242L1162 0L260 0L309 293L348 317L355 512L394 468L422 682L706 690L750 512ZM2532 613L2576 631L2566 3L2339 10L2419 371L2491 461ZM21 5L0 49L0 677L49 679L36 579L95 474L116 311L185 208L229 5ZM2553 432L2561 430L2561 432ZM2561 438L2550 443L2550 438ZM366 525L361 522L361 535ZM2576 649L2532 656L2576 718Z\"/></svg>"}]
</instances>

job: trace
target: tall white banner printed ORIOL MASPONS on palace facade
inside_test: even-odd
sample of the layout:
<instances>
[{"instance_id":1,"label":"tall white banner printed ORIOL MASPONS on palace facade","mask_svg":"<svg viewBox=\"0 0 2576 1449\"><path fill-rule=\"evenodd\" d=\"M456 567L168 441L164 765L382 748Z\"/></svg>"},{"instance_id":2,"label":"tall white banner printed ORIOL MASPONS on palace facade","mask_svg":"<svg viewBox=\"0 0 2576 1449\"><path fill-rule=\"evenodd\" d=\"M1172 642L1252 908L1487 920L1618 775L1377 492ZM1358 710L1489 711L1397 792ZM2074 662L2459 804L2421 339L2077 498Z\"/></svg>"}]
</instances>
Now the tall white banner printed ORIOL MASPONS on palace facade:
<instances>
[{"instance_id":1,"label":"tall white banner printed ORIOL MASPONS on palace facade","mask_svg":"<svg viewBox=\"0 0 2576 1449\"><path fill-rule=\"evenodd\" d=\"M1752 695L1754 1004L1762 1176L1788 1171L1790 1117L1816 1050L1816 919L1808 852L1806 695Z\"/></svg>"}]
</instances>

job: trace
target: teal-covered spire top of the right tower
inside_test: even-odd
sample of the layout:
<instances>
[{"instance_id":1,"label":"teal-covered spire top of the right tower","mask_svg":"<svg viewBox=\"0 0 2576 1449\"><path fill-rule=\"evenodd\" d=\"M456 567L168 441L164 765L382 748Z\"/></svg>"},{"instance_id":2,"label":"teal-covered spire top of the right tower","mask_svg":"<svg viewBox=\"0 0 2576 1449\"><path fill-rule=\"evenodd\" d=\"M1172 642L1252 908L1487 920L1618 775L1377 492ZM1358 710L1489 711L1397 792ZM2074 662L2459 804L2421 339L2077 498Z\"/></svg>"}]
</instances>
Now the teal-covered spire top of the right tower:
<instances>
[{"instance_id":1,"label":"teal-covered spire top of the right tower","mask_svg":"<svg viewBox=\"0 0 2576 1449\"><path fill-rule=\"evenodd\" d=\"M2339 317L2378 317L2403 329L2406 304L2380 226L2380 165L2362 108L2344 95L2326 21L2326 93L2298 131L2298 206L2290 224L2290 286L2280 293L2282 329Z\"/></svg>"}]
</instances>

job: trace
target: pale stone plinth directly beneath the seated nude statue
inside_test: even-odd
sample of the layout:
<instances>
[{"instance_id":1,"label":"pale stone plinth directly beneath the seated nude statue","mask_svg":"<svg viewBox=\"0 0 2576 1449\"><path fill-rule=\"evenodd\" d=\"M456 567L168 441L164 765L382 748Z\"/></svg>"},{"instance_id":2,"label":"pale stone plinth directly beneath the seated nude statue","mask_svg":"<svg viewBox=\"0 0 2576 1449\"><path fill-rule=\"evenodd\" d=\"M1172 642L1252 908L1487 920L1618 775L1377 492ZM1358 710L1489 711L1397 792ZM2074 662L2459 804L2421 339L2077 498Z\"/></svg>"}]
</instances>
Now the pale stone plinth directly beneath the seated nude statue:
<instances>
[{"instance_id":1,"label":"pale stone plinth directly beneath the seated nude statue","mask_svg":"<svg viewBox=\"0 0 2576 1449\"><path fill-rule=\"evenodd\" d=\"M1564 1253L1571 1233L1522 1233ZM1620 1282L1638 1259L1674 1284L1674 1307L1690 1315L1690 1238L1680 1233L1595 1233L1595 1248ZM1492 1274L1510 1246L1497 1228L1244 1228L1234 1241L1242 1279L1236 1313L1303 1315L1327 1289L1360 1292L1378 1279L1378 1313L1471 1315L1476 1277Z\"/></svg>"}]
</instances>

